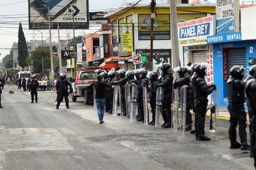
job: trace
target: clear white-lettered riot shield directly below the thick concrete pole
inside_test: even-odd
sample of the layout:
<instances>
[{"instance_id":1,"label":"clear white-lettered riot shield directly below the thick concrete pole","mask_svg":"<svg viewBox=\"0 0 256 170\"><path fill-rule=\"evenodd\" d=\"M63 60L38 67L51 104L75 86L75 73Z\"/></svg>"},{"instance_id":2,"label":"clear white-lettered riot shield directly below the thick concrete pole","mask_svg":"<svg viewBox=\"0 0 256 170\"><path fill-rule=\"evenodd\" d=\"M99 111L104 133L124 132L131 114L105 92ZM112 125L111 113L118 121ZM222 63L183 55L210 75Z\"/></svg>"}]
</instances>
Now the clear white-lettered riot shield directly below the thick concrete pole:
<instances>
[{"instance_id":1,"label":"clear white-lettered riot shield directly below the thick concrete pole","mask_svg":"<svg viewBox=\"0 0 256 170\"><path fill-rule=\"evenodd\" d=\"M173 88L173 93L172 93L172 103L171 103L171 130L175 130L176 132L179 131L180 127L180 121L179 121L179 112L180 112L180 103L179 103L179 94L178 94L178 89Z\"/></svg>"}]
</instances>

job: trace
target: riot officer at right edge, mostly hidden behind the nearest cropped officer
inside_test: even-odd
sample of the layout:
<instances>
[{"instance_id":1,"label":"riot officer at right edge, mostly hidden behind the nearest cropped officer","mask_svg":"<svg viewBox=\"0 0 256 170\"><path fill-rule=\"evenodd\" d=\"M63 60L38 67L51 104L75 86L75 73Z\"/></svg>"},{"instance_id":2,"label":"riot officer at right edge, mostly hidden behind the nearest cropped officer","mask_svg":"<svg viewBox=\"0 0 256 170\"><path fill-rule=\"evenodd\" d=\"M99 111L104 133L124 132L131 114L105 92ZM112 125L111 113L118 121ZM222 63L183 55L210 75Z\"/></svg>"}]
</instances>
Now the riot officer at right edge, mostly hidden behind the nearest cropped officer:
<instances>
[{"instance_id":1,"label":"riot officer at right edge, mostly hidden behind the nearest cropped officer","mask_svg":"<svg viewBox=\"0 0 256 170\"><path fill-rule=\"evenodd\" d=\"M256 72L256 65L251 66L250 70L249 70L249 76L245 79L245 82L248 82L249 80L251 80L252 78L255 79L254 74ZM246 90L245 90L246 92ZM249 124L249 130L250 130L250 157L253 158L253 150L255 147L255 130L253 130L252 125L251 125L251 119L253 118L253 114L254 111L251 110L250 107L250 97L248 97L248 94L246 92L247 98L246 98L246 105L248 108L248 114L250 117L250 124Z\"/></svg>"}]
</instances>

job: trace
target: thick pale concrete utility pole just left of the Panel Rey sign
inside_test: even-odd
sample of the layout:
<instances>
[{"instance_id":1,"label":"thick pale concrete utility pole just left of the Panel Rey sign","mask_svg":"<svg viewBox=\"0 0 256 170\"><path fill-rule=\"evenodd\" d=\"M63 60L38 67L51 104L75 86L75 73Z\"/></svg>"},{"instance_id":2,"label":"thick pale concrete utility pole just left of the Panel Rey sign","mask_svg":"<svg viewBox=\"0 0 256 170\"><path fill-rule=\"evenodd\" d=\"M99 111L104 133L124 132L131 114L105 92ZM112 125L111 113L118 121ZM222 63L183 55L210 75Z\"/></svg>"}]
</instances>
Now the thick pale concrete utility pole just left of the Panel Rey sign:
<instances>
[{"instance_id":1,"label":"thick pale concrete utility pole just left of the Panel Rey sign","mask_svg":"<svg viewBox=\"0 0 256 170\"><path fill-rule=\"evenodd\" d=\"M179 46L178 46L178 28L177 28L177 10L176 1L170 1L170 15L171 15L171 50L172 50L172 68L179 66ZM176 74L174 74L174 79Z\"/></svg>"}]
</instances>

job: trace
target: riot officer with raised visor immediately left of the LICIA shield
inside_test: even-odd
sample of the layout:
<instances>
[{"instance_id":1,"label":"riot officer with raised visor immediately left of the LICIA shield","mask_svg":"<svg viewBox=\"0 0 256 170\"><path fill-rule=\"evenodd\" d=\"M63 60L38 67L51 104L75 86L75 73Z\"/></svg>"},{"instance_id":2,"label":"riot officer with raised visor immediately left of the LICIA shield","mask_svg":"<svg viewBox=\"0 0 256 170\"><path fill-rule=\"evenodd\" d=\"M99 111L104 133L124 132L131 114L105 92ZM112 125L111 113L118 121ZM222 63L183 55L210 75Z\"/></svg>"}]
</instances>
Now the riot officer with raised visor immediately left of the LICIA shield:
<instances>
[{"instance_id":1,"label":"riot officer with raised visor immediately left of the LICIA shield","mask_svg":"<svg viewBox=\"0 0 256 170\"><path fill-rule=\"evenodd\" d=\"M155 109L156 109L156 99L157 99L157 83L159 81L158 79L158 73L155 71L150 71L147 74L147 78L149 81L149 104L151 107L151 113L152 113L152 121L149 122L151 125L155 125Z\"/></svg>"}]
</instances>

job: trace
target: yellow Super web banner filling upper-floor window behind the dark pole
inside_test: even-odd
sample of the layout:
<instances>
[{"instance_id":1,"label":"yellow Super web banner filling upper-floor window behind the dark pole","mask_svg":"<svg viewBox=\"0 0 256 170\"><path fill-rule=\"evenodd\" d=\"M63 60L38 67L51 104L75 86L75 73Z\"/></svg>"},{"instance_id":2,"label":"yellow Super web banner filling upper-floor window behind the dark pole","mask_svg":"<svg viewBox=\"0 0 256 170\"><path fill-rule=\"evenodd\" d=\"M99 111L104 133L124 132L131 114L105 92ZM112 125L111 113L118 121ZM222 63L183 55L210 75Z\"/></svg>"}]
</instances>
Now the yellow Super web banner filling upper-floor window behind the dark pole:
<instances>
[{"instance_id":1,"label":"yellow Super web banner filling upper-floor window behind the dark pole","mask_svg":"<svg viewBox=\"0 0 256 170\"><path fill-rule=\"evenodd\" d=\"M150 35L151 14L138 14L139 35ZM170 14L157 14L154 18L154 35L170 34Z\"/></svg>"}]
</instances>

